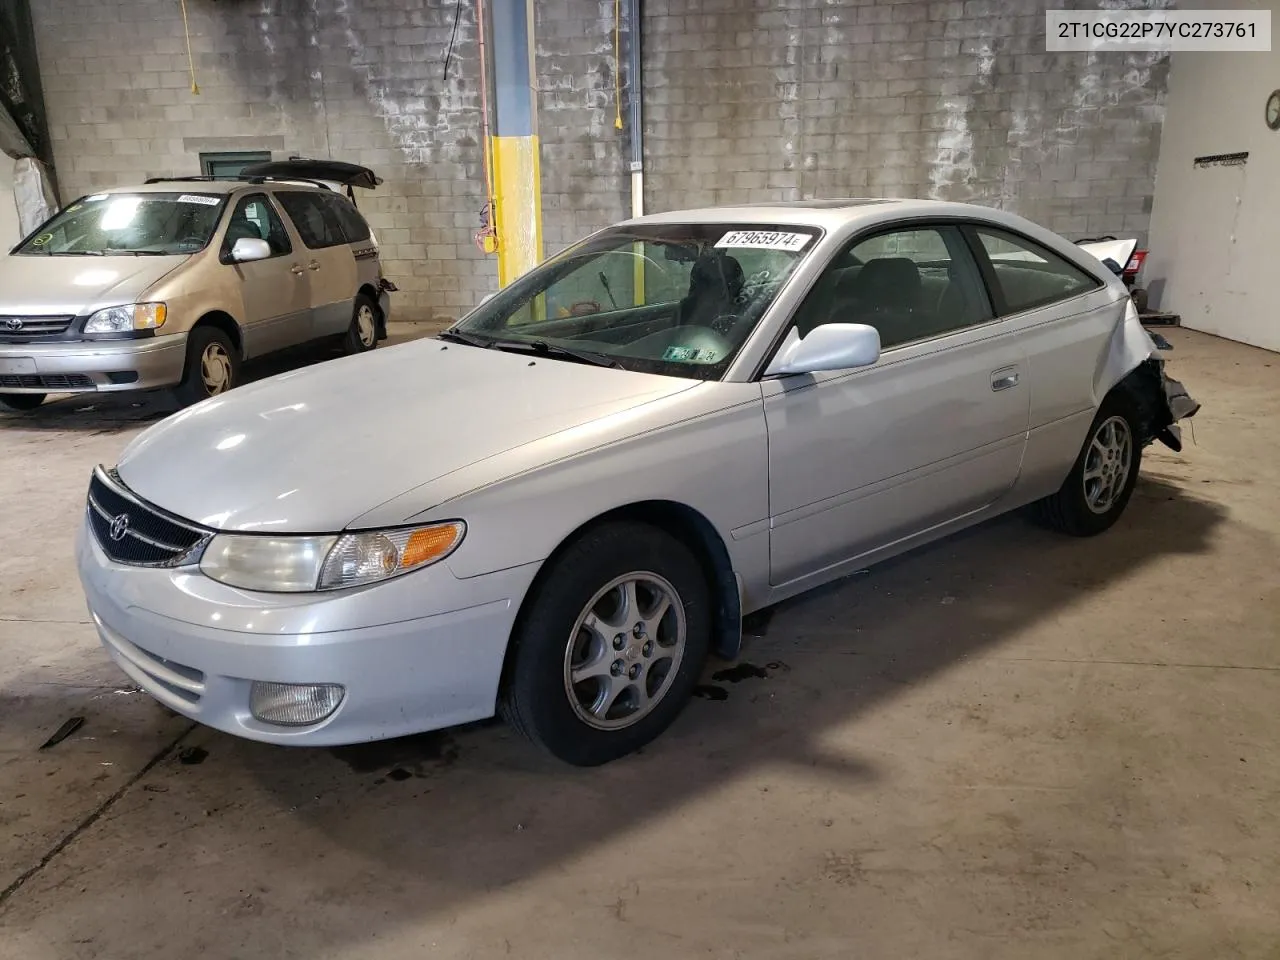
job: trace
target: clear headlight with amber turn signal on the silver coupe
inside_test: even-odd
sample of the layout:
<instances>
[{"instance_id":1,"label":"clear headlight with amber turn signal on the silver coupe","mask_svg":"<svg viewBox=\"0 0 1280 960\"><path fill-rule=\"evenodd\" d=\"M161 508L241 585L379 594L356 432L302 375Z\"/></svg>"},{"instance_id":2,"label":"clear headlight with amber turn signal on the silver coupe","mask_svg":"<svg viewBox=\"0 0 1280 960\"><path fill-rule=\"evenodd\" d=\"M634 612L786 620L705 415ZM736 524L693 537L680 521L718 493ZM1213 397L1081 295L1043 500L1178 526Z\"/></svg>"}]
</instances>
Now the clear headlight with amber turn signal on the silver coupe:
<instances>
[{"instance_id":1,"label":"clear headlight with amber turn signal on the silver coupe","mask_svg":"<svg viewBox=\"0 0 1280 960\"><path fill-rule=\"evenodd\" d=\"M205 548L200 570L243 590L340 590L444 559L462 543L463 534L462 521L329 536L219 534Z\"/></svg>"}]
</instances>

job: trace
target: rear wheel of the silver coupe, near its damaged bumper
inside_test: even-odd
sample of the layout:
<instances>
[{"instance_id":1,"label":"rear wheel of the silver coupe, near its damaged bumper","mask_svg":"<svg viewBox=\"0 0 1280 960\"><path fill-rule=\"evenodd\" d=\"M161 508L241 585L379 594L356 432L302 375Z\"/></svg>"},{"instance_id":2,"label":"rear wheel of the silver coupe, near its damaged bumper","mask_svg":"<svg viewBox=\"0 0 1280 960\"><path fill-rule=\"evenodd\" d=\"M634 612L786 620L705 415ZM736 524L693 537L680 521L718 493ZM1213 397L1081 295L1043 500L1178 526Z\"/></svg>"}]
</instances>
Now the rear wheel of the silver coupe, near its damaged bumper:
<instances>
[{"instance_id":1,"label":"rear wheel of the silver coupe, near its damaged bumper","mask_svg":"<svg viewBox=\"0 0 1280 960\"><path fill-rule=\"evenodd\" d=\"M1132 408L1116 394L1107 397L1062 486L1033 504L1037 520L1071 536L1094 536L1110 529L1138 481L1142 445L1137 435Z\"/></svg>"}]
</instances>

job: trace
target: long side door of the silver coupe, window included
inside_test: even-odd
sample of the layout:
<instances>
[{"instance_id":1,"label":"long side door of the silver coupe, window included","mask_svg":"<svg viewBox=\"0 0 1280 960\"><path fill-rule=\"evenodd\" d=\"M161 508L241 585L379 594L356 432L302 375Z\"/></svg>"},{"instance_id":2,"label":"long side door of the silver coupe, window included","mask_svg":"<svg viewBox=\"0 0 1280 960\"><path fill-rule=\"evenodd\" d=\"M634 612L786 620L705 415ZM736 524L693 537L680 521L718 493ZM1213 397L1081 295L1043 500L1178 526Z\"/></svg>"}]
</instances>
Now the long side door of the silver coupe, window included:
<instances>
[{"instance_id":1,"label":"long side door of the silver coupe, window included","mask_svg":"<svg viewBox=\"0 0 1280 960\"><path fill-rule=\"evenodd\" d=\"M879 261L879 262L877 262ZM1030 385L960 230L896 228L835 259L792 323L870 324L869 367L765 380L771 581L991 504L1014 484Z\"/></svg>"}]
</instances>

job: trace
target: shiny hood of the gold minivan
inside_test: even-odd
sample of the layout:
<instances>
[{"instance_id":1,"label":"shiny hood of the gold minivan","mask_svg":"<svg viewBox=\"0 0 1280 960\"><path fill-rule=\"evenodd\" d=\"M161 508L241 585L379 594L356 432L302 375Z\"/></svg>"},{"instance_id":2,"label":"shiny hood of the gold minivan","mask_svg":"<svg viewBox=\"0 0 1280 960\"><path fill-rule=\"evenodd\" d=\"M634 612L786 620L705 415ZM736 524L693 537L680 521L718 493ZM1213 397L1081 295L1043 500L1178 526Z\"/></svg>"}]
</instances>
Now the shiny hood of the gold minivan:
<instances>
[{"instance_id":1,"label":"shiny hood of the gold minivan","mask_svg":"<svg viewBox=\"0 0 1280 960\"><path fill-rule=\"evenodd\" d=\"M186 256L3 256L0 315L78 316L133 303Z\"/></svg>"}]
</instances>

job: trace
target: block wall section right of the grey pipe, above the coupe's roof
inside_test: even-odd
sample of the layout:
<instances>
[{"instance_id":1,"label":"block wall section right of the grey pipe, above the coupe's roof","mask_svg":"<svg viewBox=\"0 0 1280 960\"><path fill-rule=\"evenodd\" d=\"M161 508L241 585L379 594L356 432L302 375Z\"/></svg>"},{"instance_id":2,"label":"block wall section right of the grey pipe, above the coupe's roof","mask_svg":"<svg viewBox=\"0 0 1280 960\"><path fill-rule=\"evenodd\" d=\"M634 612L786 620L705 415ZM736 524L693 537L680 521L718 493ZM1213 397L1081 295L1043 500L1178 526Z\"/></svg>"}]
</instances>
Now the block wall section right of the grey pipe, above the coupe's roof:
<instances>
[{"instance_id":1,"label":"block wall section right of the grey pipe, above the coupe's roof","mask_svg":"<svg viewBox=\"0 0 1280 960\"><path fill-rule=\"evenodd\" d=\"M1146 241L1167 60L1044 52L1037 0L646 0L650 207L959 200Z\"/></svg>"}]
</instances>

